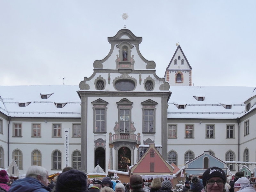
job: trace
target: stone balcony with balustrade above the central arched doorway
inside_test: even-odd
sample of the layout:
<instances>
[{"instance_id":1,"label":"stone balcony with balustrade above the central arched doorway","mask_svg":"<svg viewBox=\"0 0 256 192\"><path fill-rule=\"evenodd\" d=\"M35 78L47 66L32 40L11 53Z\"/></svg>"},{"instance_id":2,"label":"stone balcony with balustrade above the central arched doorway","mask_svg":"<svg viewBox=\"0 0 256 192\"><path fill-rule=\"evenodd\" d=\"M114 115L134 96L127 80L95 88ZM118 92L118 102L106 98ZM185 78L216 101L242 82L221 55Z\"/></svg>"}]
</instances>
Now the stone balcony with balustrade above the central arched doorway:
<instances>
[{"instance_id":1,"label":"stone balcony with balustrade above the central arched doorway","mask_svg":"<svg viewBox=\"0 0 256 192\"><path fill-rule=\"evenodd\" d=\"M140 133L138 135L133 133L115 133L113 135L109 135L110 144L116 141L129 141L140 144Z\"/></svg>"}]
</instances>

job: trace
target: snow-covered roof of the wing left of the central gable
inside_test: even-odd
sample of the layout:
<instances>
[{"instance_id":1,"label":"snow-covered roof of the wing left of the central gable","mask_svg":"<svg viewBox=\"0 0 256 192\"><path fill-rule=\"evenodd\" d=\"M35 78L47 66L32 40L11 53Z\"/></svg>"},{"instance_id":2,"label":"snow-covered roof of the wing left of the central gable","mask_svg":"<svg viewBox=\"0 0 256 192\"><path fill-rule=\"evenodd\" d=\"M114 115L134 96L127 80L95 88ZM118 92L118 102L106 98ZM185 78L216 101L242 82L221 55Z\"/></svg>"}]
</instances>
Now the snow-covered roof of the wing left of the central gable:
<instances>
[{"instance_id":1,"label":"snow-covered roof of the wing left of the central gable","mask_svg":"<svg viewBox=\"0 0 256 192\"><path fill-rule=\"evenodd\" d=\"M0 86L0 111L12 117L81 117L81 100L74 85ZM42 99L41 94L52 94ZM26 107L19 103L31 102ZM54 102L68 103L57 108Z\"/></svg>"}]
</instances>

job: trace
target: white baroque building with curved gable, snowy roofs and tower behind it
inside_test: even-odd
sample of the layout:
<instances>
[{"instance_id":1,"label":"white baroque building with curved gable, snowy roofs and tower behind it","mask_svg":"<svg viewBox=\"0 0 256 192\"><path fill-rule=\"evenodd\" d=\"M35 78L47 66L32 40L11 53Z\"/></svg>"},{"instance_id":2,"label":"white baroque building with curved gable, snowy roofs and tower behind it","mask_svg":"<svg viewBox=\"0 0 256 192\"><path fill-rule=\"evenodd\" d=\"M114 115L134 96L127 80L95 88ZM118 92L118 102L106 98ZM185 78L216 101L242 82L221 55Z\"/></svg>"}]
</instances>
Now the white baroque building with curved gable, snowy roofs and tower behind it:
<instances>
[{"instance_id":1,"label":"white baroque building with curved gable, snowy roofs and tower behind it","mask_svg":"<svg viewBox=\"0 0 256 192\"><path fill-rule=\"evenodd\" d=\"M65 166L90 173L97 164L125 171L149 143L178 167L204 151L256 161L255 87L191 86L180 45L159 78L140 53L142 37L121 29L108 42L79 86L0 86L0 168L14 159L20 174L31 165L49 174Z\"/></svg>"}]
</instances>

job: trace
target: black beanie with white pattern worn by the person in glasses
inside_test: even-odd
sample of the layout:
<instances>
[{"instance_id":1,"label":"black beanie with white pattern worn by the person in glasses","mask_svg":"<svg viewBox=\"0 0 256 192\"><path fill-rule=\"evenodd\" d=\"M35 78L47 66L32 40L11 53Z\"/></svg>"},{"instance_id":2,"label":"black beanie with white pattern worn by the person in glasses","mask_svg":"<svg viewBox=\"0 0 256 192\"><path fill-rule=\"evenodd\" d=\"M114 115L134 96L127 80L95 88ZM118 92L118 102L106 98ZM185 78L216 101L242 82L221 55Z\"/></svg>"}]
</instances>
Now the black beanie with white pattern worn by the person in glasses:
<instances>
[{"instance_id":1,"label":"black beanie with white pattern worn by the person in glasses","mask_svg":"<svg viewBox=\"0 0 256 192\"><path fill-rule=\"evenodd\" d=\"M226 184L226 173L220 169L219 167L210 167L205 170L203 174L203 184L204 187L206 186L206 181L209 180L212 177L220 177L224 180L224 185Z\"/></svg>"}]
</instances>

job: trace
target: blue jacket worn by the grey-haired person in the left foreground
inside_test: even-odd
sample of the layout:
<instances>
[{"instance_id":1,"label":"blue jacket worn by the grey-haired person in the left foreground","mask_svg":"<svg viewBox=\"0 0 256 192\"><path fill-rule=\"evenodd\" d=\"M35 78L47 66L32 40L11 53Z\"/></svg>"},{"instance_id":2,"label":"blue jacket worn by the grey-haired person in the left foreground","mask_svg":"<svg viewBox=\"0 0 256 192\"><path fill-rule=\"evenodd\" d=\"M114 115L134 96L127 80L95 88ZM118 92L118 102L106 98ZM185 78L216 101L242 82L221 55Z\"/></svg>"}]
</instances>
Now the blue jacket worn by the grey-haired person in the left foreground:
<instances>
[{"instance_id":1,"label":"blue jacket worn by the grey-haired person in the left foreground","mask_svg":"<svg viewBox=\"0 0 256 192\"><path fill-rule=\"evenodd\" d=\"M40 181L32 177L26 177L14 181L8 192L48 192L50 190L51 188L45 186Z\"/></svg>"}]
</instances>

